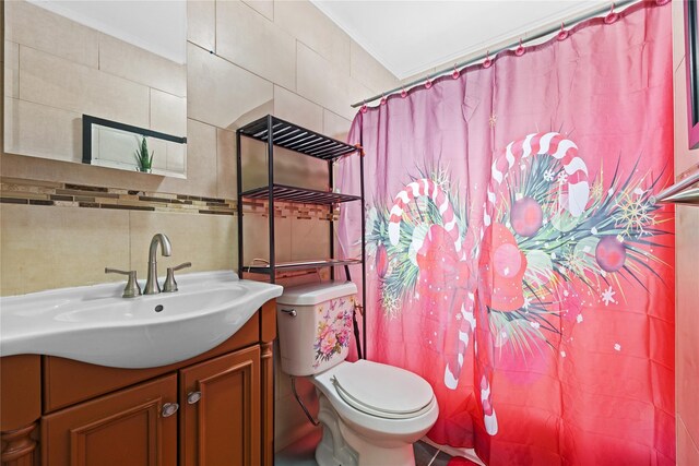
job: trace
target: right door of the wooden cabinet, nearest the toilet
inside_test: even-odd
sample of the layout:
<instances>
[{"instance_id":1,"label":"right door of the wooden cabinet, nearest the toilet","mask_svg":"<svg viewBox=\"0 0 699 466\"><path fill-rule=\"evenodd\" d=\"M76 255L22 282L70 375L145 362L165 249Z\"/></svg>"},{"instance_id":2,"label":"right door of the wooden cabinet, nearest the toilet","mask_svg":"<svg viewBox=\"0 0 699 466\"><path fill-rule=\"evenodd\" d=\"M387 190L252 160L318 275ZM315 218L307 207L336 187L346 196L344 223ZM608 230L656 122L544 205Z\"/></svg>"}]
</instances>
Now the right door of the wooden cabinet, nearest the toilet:
<instances>
[{"instance_id":1,"label":"right door of the wooden cabinet, nearest the toilet","mask_svg":"<svg viewBox=\"0 0 699 466\"><path fill-rule=\"evenodd\" d=\"M180 370L182 466L260 464L260 347Z\"/></svg>"}]
</instances>

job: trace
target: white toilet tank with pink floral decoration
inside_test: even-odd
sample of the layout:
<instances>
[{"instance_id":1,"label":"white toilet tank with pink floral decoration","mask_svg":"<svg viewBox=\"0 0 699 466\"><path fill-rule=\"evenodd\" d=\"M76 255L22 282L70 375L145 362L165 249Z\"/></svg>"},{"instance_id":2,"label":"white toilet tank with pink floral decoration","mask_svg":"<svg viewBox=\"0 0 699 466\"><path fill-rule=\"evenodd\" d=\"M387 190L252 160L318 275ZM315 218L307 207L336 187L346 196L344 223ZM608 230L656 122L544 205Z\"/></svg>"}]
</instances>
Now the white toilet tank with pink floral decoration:
<instances>
[{"instance_id":1,"label":"white toilet tank with pink floral decoration","mask_svg":"<svg viewBox=\"0 0 699 466\"><path fill-rule=\"evenodd\" d=\"M312 375L345 360L356 294L352 282L284 288L276 298L282 371Z\"/></svg>"}]
</instances>

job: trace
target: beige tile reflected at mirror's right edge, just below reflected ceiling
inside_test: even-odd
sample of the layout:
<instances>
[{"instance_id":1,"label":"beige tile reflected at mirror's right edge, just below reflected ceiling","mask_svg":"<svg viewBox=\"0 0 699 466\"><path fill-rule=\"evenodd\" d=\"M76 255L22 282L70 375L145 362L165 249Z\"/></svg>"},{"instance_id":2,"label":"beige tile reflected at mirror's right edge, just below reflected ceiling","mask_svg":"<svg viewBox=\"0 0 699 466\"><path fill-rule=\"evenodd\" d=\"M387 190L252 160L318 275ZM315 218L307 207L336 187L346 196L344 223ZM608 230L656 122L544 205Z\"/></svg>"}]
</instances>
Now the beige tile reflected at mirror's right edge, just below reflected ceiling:
<instances>
[{"instance_id":1,"label":"beige tile reflected at mirror's right edge, just below reflected ceiling","mask_svg":"<svg viewBox=\"0 0 699 466\"><path fill-rule=\"evenodd\" d=\"M187 64L99 34L99 70L179 97L187 95Z\"/></svg>"}]
</instances>

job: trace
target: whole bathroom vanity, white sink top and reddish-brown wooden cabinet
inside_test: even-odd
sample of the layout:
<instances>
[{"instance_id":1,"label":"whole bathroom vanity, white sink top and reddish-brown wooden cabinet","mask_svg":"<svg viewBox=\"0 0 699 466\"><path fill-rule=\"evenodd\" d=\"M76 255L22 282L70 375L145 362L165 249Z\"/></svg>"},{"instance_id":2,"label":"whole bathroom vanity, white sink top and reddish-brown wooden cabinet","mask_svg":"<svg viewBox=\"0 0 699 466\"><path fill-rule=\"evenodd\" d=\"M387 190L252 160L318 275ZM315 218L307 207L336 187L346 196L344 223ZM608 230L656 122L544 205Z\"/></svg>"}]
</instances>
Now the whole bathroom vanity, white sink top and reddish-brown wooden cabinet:
<instances>
[{"instance_id":1,"label":"whole bathroom vanity, white sink top and reddish-brown wooden cabinet","mask_svg":"<svg viewBox=\"0 0 699 466\"><path fill-rule=\"evenodd\" d=\"M277 285L0 298L1 466L272 465Z\"/></svg>"}]
</instances>

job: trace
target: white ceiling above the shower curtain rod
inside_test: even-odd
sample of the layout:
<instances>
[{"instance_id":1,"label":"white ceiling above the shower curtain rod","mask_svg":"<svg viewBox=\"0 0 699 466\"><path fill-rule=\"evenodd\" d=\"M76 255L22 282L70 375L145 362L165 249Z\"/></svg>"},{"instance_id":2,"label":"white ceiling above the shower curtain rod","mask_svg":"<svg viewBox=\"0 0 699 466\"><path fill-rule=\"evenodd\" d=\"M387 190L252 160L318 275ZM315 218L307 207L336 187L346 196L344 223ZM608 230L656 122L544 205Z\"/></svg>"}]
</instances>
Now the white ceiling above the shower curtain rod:
<instances>
[{"instance_id":1,"label":"white ceiling above the shower curtain rod","mask_svg":"<svg viewBox=\"0 0 699 466\"><path fill-rule=\"evenodd\" d=\"M401 80L611 5L600 0L311 1Z\"/></svg>"}]
</instances>

